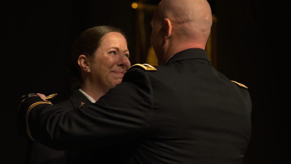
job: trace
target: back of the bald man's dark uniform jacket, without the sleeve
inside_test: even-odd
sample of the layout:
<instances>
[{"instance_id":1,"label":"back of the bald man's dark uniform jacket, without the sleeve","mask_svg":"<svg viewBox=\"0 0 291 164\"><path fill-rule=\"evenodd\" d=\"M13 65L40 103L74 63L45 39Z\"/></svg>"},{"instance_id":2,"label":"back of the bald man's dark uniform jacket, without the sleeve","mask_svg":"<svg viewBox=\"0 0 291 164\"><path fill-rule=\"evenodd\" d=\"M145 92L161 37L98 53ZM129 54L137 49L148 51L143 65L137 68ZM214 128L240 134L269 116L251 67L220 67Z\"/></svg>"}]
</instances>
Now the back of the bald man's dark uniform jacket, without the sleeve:
<instances>
[{"instance_id":1,"label":"back of the bald man's dark uniform jacket, without the sleeve","mask_svg":"<svg viewBox=\"0 0 291 164\"><path fill-rule=\"evenodd\" d=\"M148 72L152 113L136 163L241 163L251 137L251 100L201 49ZM141 153L142 152L142 153Z\"/></svg>"}]
</instances>

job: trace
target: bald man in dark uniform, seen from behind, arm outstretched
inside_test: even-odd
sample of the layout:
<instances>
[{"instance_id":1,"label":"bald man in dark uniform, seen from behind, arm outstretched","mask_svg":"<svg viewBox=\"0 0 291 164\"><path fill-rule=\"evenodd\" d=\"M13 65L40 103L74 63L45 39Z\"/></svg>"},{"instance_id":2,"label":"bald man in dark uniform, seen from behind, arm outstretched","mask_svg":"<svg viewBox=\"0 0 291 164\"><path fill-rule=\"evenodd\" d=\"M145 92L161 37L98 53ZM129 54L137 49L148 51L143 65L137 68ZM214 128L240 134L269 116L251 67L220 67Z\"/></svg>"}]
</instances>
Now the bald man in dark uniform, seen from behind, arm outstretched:
<instances>
[{"instance_id":1,"label":"bald man in dark uniform, seen from behind, arm outstretched","mask_svg":"<svg viewBox=\"0 0 291 164\"><path fill-rule=\"evenodd\" d=\"M19 132L60 150L127 143L126 163L242 163L251 98L211 66L211 25L206 0L162 0L151 21L159 67L132 66L96 103L72 111L26 98Z\"/></svg>"}]
</instances>

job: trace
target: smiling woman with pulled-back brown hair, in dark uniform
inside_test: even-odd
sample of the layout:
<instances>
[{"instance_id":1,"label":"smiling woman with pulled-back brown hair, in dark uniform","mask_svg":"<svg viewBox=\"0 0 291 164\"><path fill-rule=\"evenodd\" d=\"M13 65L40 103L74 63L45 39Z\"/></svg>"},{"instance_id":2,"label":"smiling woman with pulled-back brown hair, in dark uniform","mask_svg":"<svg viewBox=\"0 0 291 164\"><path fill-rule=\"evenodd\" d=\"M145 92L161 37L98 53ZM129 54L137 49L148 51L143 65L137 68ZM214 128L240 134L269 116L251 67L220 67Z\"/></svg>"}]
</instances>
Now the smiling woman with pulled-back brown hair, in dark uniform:
<instances>
[{"instance_id":1,"label":"smiling woman with pulled-back brown hair, in dark uniform","mask_svg":"<svg viewBox=\"0 0 291 164\"><path fill-rule=\"evenodd\" d=\"M110 26L92 27L81 33L72 45L71 58L72 76L76 81L72 89L75 91L69 99L55 104L67 109L97 101L122 81L130 67L126 36L120 29ZM26 163L118 162L117 157L112 158L117 148L56 151L38 142L29 145Z\"/></svg>"}]
</instances>

